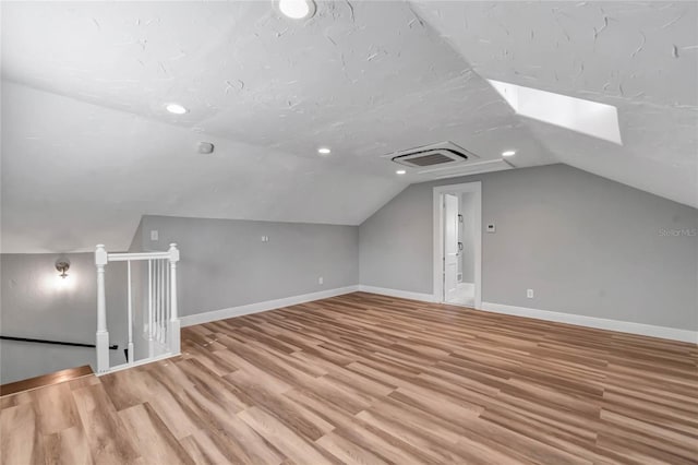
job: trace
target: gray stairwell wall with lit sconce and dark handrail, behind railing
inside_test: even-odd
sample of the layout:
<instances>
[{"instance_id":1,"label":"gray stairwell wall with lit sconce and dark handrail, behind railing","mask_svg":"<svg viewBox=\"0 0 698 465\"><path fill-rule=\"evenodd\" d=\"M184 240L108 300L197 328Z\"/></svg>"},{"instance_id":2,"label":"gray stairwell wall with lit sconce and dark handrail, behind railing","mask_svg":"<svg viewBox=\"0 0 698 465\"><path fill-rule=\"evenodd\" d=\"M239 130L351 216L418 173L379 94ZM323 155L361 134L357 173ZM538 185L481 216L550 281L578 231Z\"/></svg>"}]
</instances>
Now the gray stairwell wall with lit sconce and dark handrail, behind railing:
<instances>
[{"instance_id":1,"label":"gray stairwell wall with lit sconce and dark handrail, behind railing","mask_svg":"<svg viewBox=\"0 0 698 465\"><path fill-rule=\"evenodd\" d=\"M56 259L71 261L62 281ZM92 253L1 254L0 332L8 336L94 344L97 277ZM107 324L111 344L125 348L125 266L110 263L106 274ZM123 317L123 318L122 318ZM111 351L112 363L125 361ZM2 341L0 383L95 363L95 349Z\"/></svg>"}]
</instances>

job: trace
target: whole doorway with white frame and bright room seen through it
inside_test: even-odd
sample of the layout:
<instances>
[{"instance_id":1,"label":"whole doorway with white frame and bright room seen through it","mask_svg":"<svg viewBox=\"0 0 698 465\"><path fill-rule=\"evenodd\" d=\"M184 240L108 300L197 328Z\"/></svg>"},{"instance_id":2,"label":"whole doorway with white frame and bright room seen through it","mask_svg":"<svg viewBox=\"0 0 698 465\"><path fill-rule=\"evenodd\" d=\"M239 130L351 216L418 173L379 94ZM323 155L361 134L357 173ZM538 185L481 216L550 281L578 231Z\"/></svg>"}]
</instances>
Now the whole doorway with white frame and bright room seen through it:
<instances>
[{"instance_id":1,"label":"whole doorway with white frame and bright room seen through it","mask_svg":"<svg viewBox=\"0 0 698 465\"><path fill-rule=\"evenodd\" d=\"M482 307L482 184L434 188L434 300Z\"/></svg>"}]
</instances>

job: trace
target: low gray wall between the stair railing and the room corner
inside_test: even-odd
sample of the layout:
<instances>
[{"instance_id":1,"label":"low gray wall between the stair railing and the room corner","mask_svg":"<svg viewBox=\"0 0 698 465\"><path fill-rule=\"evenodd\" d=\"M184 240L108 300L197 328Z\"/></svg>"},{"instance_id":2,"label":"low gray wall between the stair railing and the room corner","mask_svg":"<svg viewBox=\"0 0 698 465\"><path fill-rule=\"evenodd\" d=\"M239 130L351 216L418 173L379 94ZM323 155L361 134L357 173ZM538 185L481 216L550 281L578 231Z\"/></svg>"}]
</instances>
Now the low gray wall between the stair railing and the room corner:
<instances>
[{"instance_id":1,"label":"low gray wall between the stair railing and the room corner","mask_svg":"<svg viewBox=\"0 0 698 465\"><path fill-rule=\"evenodd\" d=\"M358 226L144 216L141 234L181 251L181 315L359 284Z\"/></svg>"}]
</instances>

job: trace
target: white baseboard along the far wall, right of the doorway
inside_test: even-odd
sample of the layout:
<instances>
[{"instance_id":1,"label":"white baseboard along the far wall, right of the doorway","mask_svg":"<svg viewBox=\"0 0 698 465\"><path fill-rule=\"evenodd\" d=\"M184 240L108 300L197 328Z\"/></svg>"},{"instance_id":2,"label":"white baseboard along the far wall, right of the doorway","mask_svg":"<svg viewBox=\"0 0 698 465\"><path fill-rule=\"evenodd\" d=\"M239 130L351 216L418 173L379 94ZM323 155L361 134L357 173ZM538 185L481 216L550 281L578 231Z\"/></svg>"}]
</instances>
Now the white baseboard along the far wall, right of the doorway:
<instances>
[{"instance_id":1,"label":"white baseboard along the far wall, right of the doorway","mask_svg":"<svg viewBox=\"0 0 698 465\"><path fill-rule=\"evenodd\" d=\"M633 323L629 321L606 320L604 318L585 317L581 314L561 313L547 310L530 309L526 307L506 306L503 303L482 302L482 310L495 313L513 314L516 317L535 318L538 320L555 321L558 323L576 324L578 326L595 327L599 330L618 331L621 333L640 334L642 336L661 337L698 344L698 332L678 330L675 327L654 326L651 324Z\"/></svg>"}]
</instances>

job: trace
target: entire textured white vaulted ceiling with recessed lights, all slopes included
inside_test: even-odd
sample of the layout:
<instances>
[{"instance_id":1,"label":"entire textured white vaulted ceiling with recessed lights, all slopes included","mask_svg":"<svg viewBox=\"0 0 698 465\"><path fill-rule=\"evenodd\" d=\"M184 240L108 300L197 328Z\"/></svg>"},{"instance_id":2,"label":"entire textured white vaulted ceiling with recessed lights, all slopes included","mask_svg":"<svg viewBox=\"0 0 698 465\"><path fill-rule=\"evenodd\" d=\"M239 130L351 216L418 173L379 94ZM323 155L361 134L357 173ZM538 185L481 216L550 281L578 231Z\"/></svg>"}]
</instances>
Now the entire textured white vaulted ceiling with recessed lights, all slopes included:
<instances>
[{"instance_id":1,"label":"entire textured white vaulted ceiling with recessed lights, all slopes included","mask_svg":"<svg viewBox=\"0 0 698 465\"><path fill-rule=\"evenodd\" d=\"M429 179L382 155L441 141L698 206L696 3L0 8L3 252L124 249L143 214L360 224ZM624 144L517 116L489 79L616 106Z\"/></svg>"}]
</instances>

